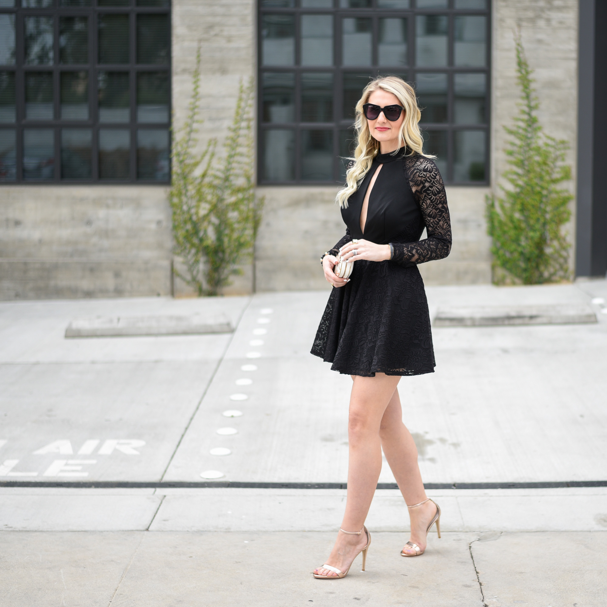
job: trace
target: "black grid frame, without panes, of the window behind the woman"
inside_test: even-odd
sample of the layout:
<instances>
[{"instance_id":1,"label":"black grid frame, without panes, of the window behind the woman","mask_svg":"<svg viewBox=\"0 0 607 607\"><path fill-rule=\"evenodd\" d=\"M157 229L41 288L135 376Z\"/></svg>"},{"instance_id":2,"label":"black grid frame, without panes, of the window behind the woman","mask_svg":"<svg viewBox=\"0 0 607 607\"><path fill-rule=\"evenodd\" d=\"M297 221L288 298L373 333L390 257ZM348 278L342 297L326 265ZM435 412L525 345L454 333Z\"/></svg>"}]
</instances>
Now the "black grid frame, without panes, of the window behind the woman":
<instances>
[{"instance_id":1,"label":"black grid frame, without panes, of the window behind the woman","mask_svg":"<svg viewBox=\"0 0 607 607\"><path fill-rule=\"evenodd\" d=\"M416 0L410 0L410 8L382 8L378 7L378 0L371 0L371 7L368 8L345 8L340 7L340 0L333 0L332 8L300 8L300 0L295 0L294 7L265 7L263 0L257 0L257 90L259 94L257 105L257 183L263 186L284 186L284 185L334 185L343 183L344 161L340 158L340 132L344 129L353 127L353 120L342 118L343 106L343 75L344 73L367 72L371 77L379 74L397 74L407 75L405 80L416 87L415 74L423 73L447 73L447 112L448 118L444 123L420 123L422 132L428 131L446 131L447 132L447 171L443 174L443 179L447 185L458 186L481 186L489 185L490 172L490 107L491 107L491 2L487 0L486 8L455 8L456 0L448 0L448 8L424 8L416 7ZM295 64L293 66L263 66L262 65L262 18L266 14L285 14L295 16ZM300 16L301 15L333 15L333 66L314 67L300 65ZM449 18L448 38L447 38L447 66L443 67L422 67L415 65L416 41L415 41L415 20L418 15L446 15ZM455 32L454 24L456 16L474 16L482 15L486 17L486 64L484 67L459 67L453 63ZM372 66L342 66L342 40L340 22L343 17L367 17L373 18L372 21L372 48L371 56ZM407 18L407 59L406 66L384 67L378 66L378 19L379 18ZM294 121L290 123L264 123L263 121L263 73L265 72L292 72L295 74L294 88ZM300 117L301 87L300 75L302 72L330 72L333 73L333 117L331 123L304 123L298 121ZM485 122L473 124L456 124L454 111L454 75L456 73L483 73L486 75L486 97L485 97ZM362 87L361 87L362 88ZM423 108L422 108L423 113ZM263 140L264 132L269 129L293 129L295 132L294 155L295 155L295 179L290 181L270 181L263 178ZM302 149L301 149L301 131L303 129L329 130L333 131L333 180L312 181L302 180ZM457 131L483 131L485 133L485 158L484 158L484 180L475 181L455 181L453 179L453 164L455 157L455 132ZM353 135L353 134L352 134ZM424 146L426 149L426 146Z\"/></svg>"}]
</instances>

